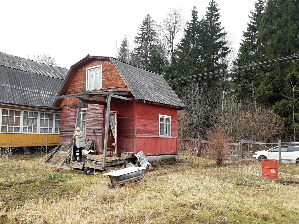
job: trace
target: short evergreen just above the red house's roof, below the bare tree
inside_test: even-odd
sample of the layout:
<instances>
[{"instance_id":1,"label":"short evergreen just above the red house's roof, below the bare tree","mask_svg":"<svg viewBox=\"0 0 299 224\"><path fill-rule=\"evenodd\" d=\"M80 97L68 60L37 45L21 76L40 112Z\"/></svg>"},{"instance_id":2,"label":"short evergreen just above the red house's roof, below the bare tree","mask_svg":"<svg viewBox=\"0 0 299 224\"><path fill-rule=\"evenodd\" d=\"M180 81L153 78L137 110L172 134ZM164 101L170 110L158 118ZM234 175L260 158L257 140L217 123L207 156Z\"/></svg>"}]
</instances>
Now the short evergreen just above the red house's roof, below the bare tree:
<instances>
[{"instance_id":1,"label":"short evergreen just above the red house's roof, below the bare tree","mask_svg":"<svg viewBox=\"0 0 299 224\"><path fill-rule=\"evenodd\" d=\"M162 73L163 71L163 58L161 57L162 47L152 47L152 50L149 54L149 60L145 69Z\"/></svg>"}]
</instances>

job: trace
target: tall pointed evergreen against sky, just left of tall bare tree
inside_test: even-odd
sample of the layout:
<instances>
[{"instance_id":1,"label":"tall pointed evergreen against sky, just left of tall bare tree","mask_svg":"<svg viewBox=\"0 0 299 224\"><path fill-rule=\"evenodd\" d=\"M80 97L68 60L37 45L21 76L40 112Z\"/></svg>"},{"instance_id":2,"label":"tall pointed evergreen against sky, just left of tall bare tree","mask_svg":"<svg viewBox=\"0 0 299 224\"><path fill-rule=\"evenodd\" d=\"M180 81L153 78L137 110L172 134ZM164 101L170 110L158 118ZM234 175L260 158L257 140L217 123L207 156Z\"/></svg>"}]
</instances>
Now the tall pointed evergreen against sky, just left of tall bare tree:
<instances>
[{"instance_id":1,"label":"tall pointed evergreen against sky, just left of tall bare tree","mask_svg":"<svg viewBox=\"0 0 299 224\"><path fill-rule=\"evenodd\" d=\"M135 37L134 65L145 67L149 60L149 53L154 46L156 31L154 21L149 14L144 18L139 27L140 33Z\"/></svg>"}]
</instances>

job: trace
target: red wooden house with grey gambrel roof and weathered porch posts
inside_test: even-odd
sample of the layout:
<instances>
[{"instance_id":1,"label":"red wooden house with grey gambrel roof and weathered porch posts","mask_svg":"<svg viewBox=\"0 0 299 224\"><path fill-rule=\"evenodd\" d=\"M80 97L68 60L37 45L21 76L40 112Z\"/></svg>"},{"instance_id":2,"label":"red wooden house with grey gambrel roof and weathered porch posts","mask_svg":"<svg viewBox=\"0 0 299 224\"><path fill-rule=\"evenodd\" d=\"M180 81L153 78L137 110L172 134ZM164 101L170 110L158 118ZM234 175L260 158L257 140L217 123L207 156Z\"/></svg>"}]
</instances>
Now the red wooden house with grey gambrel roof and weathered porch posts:
<instances>
[{"instance_id":1,"label":"red wooden house with grey gambrel roof and weathered porch posts","mask_svg":"<svg viewBox=\"0 0 299 224\"><path fill-rule=\"evenodd\" d=\"M177 110L184 104L158 73L87 55L71 66L53 105L62 107L60 143L79 126L97 154L177 154Z\"/></svg>"}]
</instances>

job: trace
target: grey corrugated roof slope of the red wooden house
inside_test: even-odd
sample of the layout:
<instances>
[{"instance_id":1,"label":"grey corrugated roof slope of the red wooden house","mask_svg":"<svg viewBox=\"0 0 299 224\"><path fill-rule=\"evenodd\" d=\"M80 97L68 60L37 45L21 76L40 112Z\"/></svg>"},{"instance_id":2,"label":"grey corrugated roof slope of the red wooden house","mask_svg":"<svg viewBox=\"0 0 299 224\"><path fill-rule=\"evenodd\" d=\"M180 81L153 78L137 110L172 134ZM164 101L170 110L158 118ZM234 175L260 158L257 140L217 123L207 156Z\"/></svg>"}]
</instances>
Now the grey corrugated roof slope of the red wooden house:
<instances>
[{"instance_id":1,"label":"grey corrugated roof slope of the red wooden house","mask_svg":"<svg viewBox=\"0 0 299 224\"><path fill-rule=\"evenodd\" d=\"M110 58L136 99L184 108L162 75Z\"/></svg>"}]
</instances>

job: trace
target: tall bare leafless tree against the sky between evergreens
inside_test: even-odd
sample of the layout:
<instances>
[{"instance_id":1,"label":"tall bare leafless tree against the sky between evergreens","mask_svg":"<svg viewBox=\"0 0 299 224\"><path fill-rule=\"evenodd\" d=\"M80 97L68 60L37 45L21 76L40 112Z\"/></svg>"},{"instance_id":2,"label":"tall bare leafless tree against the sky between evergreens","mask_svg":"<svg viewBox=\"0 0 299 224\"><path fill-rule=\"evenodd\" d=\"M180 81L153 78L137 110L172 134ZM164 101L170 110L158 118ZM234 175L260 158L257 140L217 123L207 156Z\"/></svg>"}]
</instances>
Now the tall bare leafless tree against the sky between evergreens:
<instances>
[{"instance_id":1,"label":"tall bare leafless tree against the sky between evergreens","mask_svg":"<svg viewBox=\"0 0 299 224\"><path fill-rule=\"evenodd\" d=\"M161 45L167 52L167 60L171 63L176 50L176 36L183 30L184 17L179 9L168 10L161 24L157 24Z\"/></svg>"}]
</instances>

